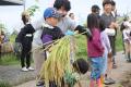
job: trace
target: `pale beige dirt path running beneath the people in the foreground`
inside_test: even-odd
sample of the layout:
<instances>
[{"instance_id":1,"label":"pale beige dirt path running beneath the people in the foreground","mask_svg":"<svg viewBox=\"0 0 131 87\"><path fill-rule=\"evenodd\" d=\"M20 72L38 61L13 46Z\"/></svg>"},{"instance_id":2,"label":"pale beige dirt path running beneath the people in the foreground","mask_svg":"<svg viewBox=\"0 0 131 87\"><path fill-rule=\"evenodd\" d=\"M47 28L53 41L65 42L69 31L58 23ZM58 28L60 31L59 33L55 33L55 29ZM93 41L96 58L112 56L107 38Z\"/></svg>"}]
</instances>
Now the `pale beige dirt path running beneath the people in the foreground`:
<instances>
[{"instance_id":1,"label":"pale beige dirt path running beneath the people in the foreground","mask_svg":"<svg viewBox=\"0 0 131 87\"><path fill-rule=\"evenodd\" d=\"M116 80L116 84L105 86L105 87L123 87L123 86L120 86L120 82L126 77L126 73L131 71L131 63L126 62L126 59L122 52L117 53L116 62L117 62L118 67L114 69L111 73L112 78ZM87 77L88 77L88 73L87 75L82 76L81 83L83 87L88 87ZM35 79L24 83L22 85L15 86L15 87L35 87ZM131 86L127 86L127 87L131 87Z\"/></svg>"}]
</instances>

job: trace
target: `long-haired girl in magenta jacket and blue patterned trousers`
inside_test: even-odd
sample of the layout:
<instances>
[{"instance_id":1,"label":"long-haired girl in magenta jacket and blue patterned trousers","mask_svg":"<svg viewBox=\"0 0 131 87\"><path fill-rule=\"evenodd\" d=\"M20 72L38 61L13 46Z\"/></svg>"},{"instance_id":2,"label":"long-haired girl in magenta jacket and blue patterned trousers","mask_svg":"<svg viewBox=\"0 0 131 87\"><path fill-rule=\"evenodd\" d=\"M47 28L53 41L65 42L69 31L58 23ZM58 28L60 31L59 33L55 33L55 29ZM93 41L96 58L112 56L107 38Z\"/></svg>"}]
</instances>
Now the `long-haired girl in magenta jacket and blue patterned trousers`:
<instances>
[{"instance_id":1,"label":"long-haired girl in magenta jacket and blue patterned trousers","mask_svg":"<svg viewBox=\"0 0 131 87\"><path fill-rule=\"evenodd\" d=\"M104 47L100 40L100 30L98 17L96 14L87 16L87 28L92 33L92 37L87 38L87 55L91 60L91 82L90 87L102 87L103 54Z\"/></svg>"}]
</instances>

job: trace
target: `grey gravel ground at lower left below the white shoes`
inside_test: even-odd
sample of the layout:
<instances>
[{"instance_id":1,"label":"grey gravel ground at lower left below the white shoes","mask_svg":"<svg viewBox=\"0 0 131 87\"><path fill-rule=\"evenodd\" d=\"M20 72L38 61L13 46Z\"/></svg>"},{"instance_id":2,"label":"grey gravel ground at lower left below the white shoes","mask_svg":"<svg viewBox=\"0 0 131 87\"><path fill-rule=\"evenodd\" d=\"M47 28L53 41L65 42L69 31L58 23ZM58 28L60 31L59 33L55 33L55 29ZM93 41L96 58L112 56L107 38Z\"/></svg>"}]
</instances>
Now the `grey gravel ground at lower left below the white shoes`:
<instances>
[{"instance_id":1,"label":"grey gravel ground at lower left below the white shoes","mask_svg":"<svg viewBox=\"0 0 131 87\"><path fill-rule=\"evenodd\" d=\"M0 82L17 85L35 78L35 72L22 72L20 65L0 65Z\"/></svg>"}]
</instances>

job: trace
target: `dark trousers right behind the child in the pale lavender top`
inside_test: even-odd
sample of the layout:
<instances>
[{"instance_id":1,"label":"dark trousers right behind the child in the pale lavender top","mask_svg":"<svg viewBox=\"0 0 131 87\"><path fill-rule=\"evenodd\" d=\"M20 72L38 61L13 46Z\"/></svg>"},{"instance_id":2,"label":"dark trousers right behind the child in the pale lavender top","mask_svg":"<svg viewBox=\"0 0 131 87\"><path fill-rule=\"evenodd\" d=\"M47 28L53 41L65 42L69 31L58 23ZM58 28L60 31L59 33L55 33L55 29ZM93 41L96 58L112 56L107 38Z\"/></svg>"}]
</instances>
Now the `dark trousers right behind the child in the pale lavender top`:
<instances>
[{"instance_id":1,"label":"dark trousers right behind the child in the pale lavender top","mask_svg":"<svg viewBox=\"0 0 131 87\"><path fill-rule=\"evenodd\" d=\"M110 46L111 46L111 50L112 50L112 64L116 64L115 61L115 55L116 55L116 36L109 36L109 41L110 41Z\"/></svg>"}]
</instances>

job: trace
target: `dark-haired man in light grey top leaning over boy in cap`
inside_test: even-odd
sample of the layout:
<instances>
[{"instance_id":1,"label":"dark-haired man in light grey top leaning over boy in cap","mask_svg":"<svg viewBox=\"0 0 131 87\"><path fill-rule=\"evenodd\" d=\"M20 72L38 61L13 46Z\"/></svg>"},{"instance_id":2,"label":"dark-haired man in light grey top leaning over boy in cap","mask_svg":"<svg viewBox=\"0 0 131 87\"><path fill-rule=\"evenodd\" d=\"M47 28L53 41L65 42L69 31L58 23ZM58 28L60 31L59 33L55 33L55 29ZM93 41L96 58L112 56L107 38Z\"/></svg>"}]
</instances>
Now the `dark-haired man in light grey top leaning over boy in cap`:
<instances>
[{"instance_id":1,"label":"dark-haired man in light grey top leaning over boy in cap","mask_svg":"<svg viewBox=\"0 0 131 87\"><path fill-rule=\"evenodd\" d=\"M56 0L53 3L53 8L57 9L57 12L61 15L58 22L58 27L62 30L64 34L69 28L72 30L79 30L79 33L84 33L86 29L84 29L83 26L75 24L70 17L67 17L66 15L71 10L71 4L69 0ZM41 42L41 33L43 33L43 24L44 24L44 17L40 17L38 21L32 22L33 28L36 30L33 39L33 59L35 63L36 69L36 76L39 77L39 71L41 67L41 64L45 61L44 53L38 48L43 46ZM88 36L87 33L84 35Z\"/></svg>"}]
</instances>

